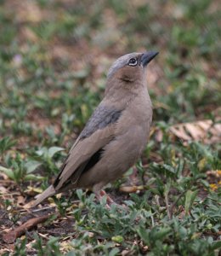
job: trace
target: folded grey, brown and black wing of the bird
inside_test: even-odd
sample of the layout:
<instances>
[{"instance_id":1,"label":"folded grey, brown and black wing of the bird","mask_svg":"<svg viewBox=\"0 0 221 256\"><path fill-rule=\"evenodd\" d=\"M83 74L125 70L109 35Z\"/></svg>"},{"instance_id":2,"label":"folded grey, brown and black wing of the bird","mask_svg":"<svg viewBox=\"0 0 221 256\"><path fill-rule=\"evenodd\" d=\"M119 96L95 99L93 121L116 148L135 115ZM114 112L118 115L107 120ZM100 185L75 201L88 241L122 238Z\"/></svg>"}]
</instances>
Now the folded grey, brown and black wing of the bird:
<instances>
[{"instance_id":1,"label":"folded grey, brown and black wing of the bird","mask_svg":"<svg viewBox=\"0 0 221 256\"><path fill-rule=\"evenodd\" d=\"M76 143L72 146L58 177L54 181L56 191L67 184L77 183L82 172L87 171L99 160L102 148L114 137L115 123L121 110L102 104L95 109Z\"/></svg>"}]
</instances>

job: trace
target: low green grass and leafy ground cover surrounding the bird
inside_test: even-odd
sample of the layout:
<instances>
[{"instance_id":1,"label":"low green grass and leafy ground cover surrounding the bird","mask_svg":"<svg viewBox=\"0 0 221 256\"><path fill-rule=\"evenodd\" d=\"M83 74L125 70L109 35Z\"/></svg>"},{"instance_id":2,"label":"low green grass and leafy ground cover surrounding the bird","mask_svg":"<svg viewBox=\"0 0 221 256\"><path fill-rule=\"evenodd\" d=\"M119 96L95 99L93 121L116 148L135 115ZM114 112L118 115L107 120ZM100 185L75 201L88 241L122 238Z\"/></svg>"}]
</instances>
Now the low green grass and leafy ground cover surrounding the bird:
<instances>
[{"instance_id":1,"label":"low green grass and leafy ground cover surrounding the bird","mask_svg":"<svg viewBox=\"0 0 221 256\"><path fill-rule=\"evenodd\" d=\"M221 170L220 141L184 142L169 129L217 122L219 17L218 1L209 0L0 1L3 230L20 224L23 205L59 172L103 96L111 62L132 51L160 51L149 71L155 132L137 163L141 191L119 191L129 170L106 189L121 207L109 210L105 199L82 190L45 202L56 204L48 222L17 239L11 254L0 237L3 255L218 255L220 176L210 171ZM71 230L50 233L70 219Z\"/></svg>"}]
</instances>

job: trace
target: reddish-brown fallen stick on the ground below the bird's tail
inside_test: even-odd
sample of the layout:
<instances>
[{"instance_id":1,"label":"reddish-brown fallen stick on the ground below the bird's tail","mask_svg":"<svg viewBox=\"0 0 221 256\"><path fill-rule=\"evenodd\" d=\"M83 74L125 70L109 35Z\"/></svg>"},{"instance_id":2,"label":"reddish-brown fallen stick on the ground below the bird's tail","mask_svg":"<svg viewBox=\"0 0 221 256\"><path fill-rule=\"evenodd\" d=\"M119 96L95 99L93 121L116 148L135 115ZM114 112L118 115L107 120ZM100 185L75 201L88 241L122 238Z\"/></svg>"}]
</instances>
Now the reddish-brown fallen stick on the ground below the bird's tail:
<instances>
[{"instance_id":1,"label":"reddish-brown fallen stick on the ground below the bird's tail","mask_svg":"<svg viewBox=\"0 0 221 256\"><path fill-rule=\"evenodd\" d=\"M6 234L3 234L3 241L7 243L13 243L16 240L16 238L25 234L26 230L30 230L32 227L36 226L39 223L44 222L49 217L50 215L29 219L28 221L26 221L26 223L21 224L20 227L17 227L14 230L10 230Z\"/></svg>"}]
</instances>

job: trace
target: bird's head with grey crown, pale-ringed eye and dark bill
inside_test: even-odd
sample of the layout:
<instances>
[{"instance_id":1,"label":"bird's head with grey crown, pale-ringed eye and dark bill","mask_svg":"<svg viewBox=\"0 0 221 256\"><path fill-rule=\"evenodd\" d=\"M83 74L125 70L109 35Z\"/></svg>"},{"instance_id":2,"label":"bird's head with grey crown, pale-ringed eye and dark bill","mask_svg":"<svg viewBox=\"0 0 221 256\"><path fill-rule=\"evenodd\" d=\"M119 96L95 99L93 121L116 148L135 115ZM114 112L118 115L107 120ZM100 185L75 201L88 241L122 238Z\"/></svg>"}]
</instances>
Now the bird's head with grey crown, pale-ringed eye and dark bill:
<instances>
[{"instance_id":1,"label":"bird's head with grey crown, pale-ringed eye and dark bill","mask_svg":"<svg viewBox=\"0 0 221 256\"><path fill-rule=\"evenodd\" d=\"M156 51L148 51L122 55L112 64L107 79L126 84L146 79L146 66L157 54Z\"/></svg>"}]
</instances>

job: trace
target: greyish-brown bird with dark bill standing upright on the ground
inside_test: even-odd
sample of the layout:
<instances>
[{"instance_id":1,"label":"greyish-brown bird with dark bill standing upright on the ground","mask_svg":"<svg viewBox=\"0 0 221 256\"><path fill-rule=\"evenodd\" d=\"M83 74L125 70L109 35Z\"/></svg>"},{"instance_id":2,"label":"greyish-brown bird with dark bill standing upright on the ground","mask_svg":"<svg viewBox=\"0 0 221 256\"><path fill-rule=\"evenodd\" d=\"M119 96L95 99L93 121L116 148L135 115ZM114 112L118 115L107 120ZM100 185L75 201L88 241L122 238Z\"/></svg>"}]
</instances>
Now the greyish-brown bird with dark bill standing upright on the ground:
<instances>
[{"instance_id":1,"label":"greyish-brown bird with dark bill standing upright on the ground","mask_svg":"<svg viewBox=\"0 0 221 256\"><path fill-rule=\"evenodd\" d=\"M158 52L133 52L113 62L105 95L71 147L58 176L31 207L68 189L102 188L132 167L150 135L152 104L147 66Z\"/></svg>"}]
</instances>

